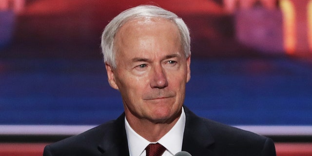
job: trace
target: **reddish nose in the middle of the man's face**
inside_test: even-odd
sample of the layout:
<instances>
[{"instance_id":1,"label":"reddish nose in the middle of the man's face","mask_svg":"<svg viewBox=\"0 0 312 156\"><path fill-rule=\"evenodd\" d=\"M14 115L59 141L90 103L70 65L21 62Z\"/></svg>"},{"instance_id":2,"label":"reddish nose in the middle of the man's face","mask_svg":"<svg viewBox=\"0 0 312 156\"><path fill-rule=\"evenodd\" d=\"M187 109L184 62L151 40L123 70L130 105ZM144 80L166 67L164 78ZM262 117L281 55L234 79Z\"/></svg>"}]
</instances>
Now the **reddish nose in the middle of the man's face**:
<instances>
[{"instance_id":1,"label":"reddish nose in the middle of the man's face","mask_svg":"<svg viewBox=\"0 0 312 156\"><path fill-rule=\"evenodd\" d=\"M154 68L153 74L151 75L151 87L152 88L165 88L168 86L168 80L166 77L166 73L161 66L157 66Z\"/></svg>"}]
</instances>

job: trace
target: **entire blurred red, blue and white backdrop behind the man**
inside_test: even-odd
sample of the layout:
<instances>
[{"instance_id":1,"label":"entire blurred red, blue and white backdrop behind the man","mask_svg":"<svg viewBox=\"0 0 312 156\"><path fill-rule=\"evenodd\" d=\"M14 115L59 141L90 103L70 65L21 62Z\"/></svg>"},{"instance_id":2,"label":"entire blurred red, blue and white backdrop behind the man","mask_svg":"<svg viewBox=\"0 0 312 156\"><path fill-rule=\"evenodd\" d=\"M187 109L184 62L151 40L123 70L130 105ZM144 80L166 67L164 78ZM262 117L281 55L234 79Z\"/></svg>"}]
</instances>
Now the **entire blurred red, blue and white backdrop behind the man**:
<instances>
[{"instance_id":1,"label":"entire blurred red, blue and white backdrop behind the man","mask_svg":"<svg viewBox=\"0 0 312 156\"><path fill-rule=\"evenodd\" d=\"M100 36L140 4L190 28L187 107L312 155L312 0L0 0L0 155L41 156L123 112Z\"/></svg>"}]
</instances>

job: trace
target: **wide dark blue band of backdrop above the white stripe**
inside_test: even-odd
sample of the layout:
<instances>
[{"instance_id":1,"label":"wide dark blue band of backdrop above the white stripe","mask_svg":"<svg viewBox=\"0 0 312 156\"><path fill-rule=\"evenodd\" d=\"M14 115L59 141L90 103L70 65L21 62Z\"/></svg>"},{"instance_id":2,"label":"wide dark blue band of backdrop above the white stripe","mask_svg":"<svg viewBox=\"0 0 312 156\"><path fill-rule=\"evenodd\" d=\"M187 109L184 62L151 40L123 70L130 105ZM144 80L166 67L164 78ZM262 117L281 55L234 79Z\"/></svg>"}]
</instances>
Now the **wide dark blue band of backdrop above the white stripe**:
<instances>
[{"instance_id":1,"label":"wide dark blue band of backdrop above the white stripe","mask_svg":"<svg viewBox=\"0 0 312 156\"><path fill-rule=\"evenodd\" d=\"M311 125L312 62L192 58L185 105L231 125ZM94 125L122 112L101 59L0 59L0 124Z\"/></svg>"}]
</instances>

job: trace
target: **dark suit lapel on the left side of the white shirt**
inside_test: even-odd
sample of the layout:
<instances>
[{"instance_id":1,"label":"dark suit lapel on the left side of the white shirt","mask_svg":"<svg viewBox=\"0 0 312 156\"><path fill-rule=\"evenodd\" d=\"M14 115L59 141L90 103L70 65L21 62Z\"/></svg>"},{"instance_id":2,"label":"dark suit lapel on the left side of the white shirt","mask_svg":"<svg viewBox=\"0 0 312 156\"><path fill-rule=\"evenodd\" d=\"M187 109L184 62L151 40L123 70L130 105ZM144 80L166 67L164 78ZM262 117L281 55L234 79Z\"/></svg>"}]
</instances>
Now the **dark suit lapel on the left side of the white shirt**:
<instances>
[{"instance_id":1,"label":"dark suit lapel on the left side of the white shirt","mask_svg":"<svg viewBox=\"0 0 312 156\"><path fill-rule=\"evenodd\" d=\"M103 132L105 135L98 144L102 156L129 156L124 118L125 115L122 114Z\"/></svg>"}]
</instances>

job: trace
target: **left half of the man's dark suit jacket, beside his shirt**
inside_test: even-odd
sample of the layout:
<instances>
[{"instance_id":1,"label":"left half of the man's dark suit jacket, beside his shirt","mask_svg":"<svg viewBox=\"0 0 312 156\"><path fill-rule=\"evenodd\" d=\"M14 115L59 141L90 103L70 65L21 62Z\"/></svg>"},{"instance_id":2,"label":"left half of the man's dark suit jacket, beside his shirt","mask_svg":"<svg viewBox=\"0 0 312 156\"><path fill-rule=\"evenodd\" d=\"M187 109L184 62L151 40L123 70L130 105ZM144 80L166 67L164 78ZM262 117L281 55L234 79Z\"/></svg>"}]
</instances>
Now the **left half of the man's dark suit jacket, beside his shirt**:
<instances>
[{"instance_id":1,"label":"left half of the man's dark suit jacket, beside his shirt","mask_svg":"<svg viewBox=\"0 0 312 156\"><path fill-rule=\"evenodd\" d=\"M43 156L127 156L124 114L77 136L44 148Z\"/></svg>"}]
</instances>

